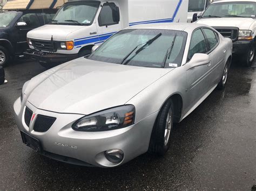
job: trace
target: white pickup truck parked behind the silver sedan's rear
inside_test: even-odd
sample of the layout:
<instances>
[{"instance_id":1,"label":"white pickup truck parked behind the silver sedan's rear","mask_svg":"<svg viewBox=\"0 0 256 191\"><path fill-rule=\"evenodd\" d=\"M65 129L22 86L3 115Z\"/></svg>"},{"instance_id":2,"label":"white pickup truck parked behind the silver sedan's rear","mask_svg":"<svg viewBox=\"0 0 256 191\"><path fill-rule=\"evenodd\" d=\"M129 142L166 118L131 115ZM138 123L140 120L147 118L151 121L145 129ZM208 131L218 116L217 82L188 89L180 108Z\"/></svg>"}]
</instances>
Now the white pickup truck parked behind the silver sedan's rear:
<instances>
[{"instance_id":1,"label":"white pickup truck parked behind the silver sedan's rear","mask_svg":"<svg viewBox=\"0 0 256 191\"><path fill-rule=\"evenodd\" d=\"M207 24L233 41L233 55L251 66L255 55L256 1L225 0L212 3L196 23Z\"/></svg>"}]
</instances>

